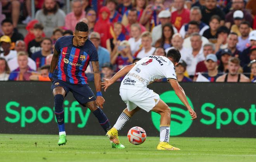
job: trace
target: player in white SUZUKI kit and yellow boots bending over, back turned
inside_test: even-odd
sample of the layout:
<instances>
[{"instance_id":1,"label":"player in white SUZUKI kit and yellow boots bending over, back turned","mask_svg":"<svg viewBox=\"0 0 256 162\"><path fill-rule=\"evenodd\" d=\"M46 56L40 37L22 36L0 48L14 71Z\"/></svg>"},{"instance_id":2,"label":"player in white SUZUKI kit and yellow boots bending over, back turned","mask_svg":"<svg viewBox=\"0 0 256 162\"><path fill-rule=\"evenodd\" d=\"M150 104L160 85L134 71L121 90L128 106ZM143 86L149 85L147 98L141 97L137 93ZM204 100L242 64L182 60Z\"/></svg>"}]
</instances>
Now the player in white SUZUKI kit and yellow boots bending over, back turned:
<instances>
[{"instance_id":1,"label":"player in white SUZUKI kit and yellow boots bending over, back turned","mask_svg":"<svg viewBox=\"0 0 256 162\"><path fill-rule=\"evenodd\" d=\"M107 132L111 140L112 148L125 148L118 140L118 131L123 128L126 122L139 109L147 112L154 111L161 115L160 119L160 142L157 150L180 150L169 145L171 110L164 103L158 94L147 88L147 85L161 78L167 78L168 82L175 90L176 95L187 107L192 120L196 119L196 113L189 105L185 92L179 85L175 65L180 60L180 52L177 49L170 49L166 56L147 56L137 63L128 65L117 72L111 79L102 82L102 88L106 89L127 73L120 86L120 96L126 103L127 108L119 116L116 124Z\"/></svg>"}]
</instances>

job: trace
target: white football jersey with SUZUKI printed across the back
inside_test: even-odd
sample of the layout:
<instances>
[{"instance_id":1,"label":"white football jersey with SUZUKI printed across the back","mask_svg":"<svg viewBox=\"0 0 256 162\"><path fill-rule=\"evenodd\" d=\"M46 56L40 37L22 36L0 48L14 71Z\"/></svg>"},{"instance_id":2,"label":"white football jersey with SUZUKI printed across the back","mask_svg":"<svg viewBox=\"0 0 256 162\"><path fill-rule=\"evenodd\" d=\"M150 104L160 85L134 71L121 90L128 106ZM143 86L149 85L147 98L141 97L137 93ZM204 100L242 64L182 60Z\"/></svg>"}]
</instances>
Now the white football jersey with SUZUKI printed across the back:
<instances>
[{"instance_id":1,"label":"white football jersey with SUZUKI printed across the back","mask_svg":"<svg viewBox=\"0 0 256 162\"><path fill-rule=\"evenodd\" d=\"M120 89L144 89L155 80L176 78L173 63L164 56L147 56L139 60L121 82Z\"/></svg>"}]
</instances>

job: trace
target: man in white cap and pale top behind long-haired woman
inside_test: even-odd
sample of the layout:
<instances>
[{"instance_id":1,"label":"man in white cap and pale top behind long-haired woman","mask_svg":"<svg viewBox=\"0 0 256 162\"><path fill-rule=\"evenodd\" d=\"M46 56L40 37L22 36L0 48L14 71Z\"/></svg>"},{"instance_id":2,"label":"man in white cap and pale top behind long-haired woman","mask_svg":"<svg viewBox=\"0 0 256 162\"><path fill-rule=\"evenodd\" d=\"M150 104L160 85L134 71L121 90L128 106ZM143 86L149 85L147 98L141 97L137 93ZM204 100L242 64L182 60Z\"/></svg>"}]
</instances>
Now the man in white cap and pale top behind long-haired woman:
<instances>
[{"instance_id":1,"label":"man in white cap and pale top behind long-haired woman","mask_svg":"<svg viewBox=\"0 0 256 162\"><path fill-rule=\"evenodd\" d=\"M161 11L159 14L158 14L158 18L159 18L159 21L161 22L161 24L155 26L153 29L152 29L152 41L153 41L153 45L156 44L156 41L158 39L160 39L162 37L162 28L165 24L167 24L168 22L170 22L170 18L171 18L171 12L169 10L163 10ZM177 33L177 29L173 27L173 31L174 33Z\"/></svg>"}]
</instances>

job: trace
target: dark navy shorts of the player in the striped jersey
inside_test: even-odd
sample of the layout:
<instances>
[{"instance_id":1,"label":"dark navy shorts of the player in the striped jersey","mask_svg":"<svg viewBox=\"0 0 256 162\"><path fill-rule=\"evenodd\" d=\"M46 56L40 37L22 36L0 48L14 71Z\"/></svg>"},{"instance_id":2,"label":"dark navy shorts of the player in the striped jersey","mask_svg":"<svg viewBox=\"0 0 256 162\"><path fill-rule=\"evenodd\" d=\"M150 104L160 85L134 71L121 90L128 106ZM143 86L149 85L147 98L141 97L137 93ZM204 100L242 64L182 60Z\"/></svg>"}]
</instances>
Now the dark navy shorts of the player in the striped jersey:
<instances>
[{"instance_id":1,"label":"dark navy shorts of the player in the striped jersey","mask_svg":"<svg viewBox=\"0 0 256 162\"><path fill-rule=\"evenodd\" d=\"M96 100L96 97L88 84L77 85L67 83L62 80L54 80L52 82L51 89L54 90L55 87L63 87L66 91L65 97L69 91L72 92L76 101L78 101L82 106L85 106L87 102Z\"/></svg>"}]
</instances>

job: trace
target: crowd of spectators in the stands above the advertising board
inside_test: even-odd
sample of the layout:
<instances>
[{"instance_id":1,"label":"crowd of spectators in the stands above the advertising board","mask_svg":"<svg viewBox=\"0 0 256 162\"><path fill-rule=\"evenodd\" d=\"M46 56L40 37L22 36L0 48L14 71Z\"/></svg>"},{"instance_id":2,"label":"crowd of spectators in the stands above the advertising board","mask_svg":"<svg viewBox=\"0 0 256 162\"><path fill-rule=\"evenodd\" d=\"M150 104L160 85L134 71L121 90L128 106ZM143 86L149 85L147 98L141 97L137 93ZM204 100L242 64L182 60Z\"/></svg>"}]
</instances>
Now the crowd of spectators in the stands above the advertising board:
<instances>
[{"instance_id":1,"label":"crowd of spectators in the stands above the advertising board","mask_svg":"<svg viewBox=\"0 0 256 162\"><path fill-rule=\"evenodd\" d=\"M102 77L176 48L179 82L256 82L256 0L72 0L67 14L65 3L35 0L32 19L31 0L0 1L0 80L50 81L54 43L83 21Z\"/></svg>"}]
</instances>

